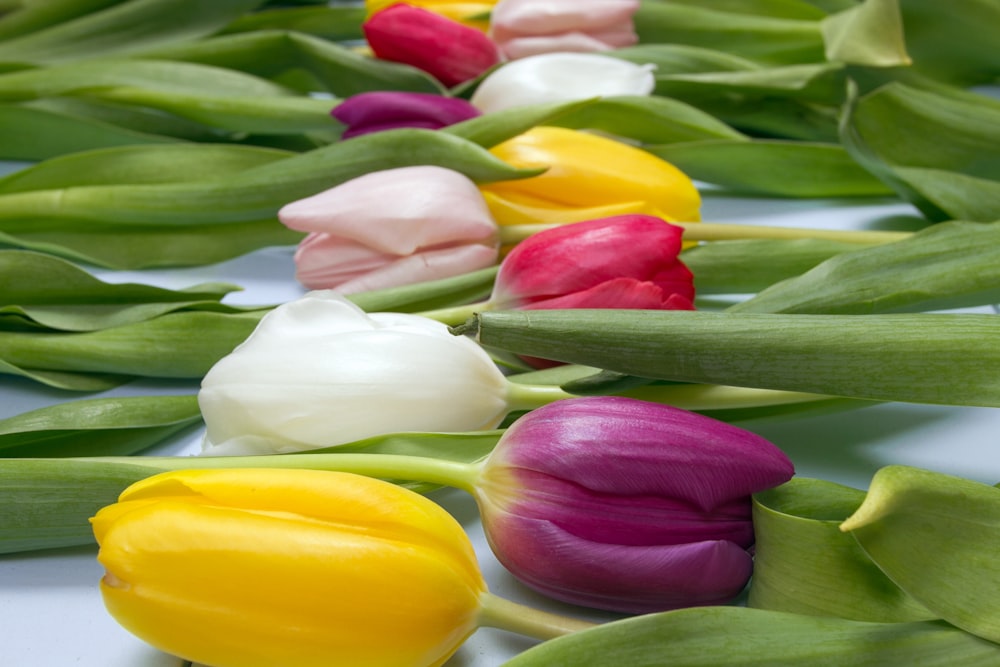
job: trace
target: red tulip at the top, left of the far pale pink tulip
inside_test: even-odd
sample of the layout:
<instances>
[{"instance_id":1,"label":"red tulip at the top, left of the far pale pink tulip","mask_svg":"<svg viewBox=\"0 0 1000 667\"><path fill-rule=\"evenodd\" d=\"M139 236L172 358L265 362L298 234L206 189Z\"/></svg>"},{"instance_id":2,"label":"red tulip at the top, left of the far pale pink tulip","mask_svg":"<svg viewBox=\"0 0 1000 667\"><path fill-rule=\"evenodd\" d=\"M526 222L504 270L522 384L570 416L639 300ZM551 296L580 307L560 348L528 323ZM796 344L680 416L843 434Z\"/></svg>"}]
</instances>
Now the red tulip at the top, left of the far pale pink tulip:
<instances>
[{"instance_id":1,"label":"red tulip at the top, left of the far pale pink tulip","mask_svg":"<svg viewBox=\"0 0 1000 667\"><path fill-rule=\"evenodd\" d=\"M422 69L446 86L474 79L500 61L484 33L412 5L386 7L361 28L376 57Z\"/></svg>"}]
</instances>

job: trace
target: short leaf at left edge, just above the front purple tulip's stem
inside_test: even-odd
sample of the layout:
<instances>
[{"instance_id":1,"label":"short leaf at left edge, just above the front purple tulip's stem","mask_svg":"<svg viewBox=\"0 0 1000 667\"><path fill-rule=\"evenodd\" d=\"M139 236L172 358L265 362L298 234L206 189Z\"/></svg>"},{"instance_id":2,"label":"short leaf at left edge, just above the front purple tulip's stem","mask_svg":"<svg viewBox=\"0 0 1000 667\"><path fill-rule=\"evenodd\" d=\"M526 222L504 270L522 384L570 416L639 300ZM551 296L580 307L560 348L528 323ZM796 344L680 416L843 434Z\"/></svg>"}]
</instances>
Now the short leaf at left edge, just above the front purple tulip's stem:
<instances>
[{"instance_id":1,"label":"short leaf at left edge, just above the front purple tulip's stem","mask_svg":"<svg viewBox=\"0 0 1000 667\"><path fill-rule=\"evenodd\" d=\"M0 420L0 454L124 456L200 423L193 395L68 401Z\"/></svg>"}]
</instances>

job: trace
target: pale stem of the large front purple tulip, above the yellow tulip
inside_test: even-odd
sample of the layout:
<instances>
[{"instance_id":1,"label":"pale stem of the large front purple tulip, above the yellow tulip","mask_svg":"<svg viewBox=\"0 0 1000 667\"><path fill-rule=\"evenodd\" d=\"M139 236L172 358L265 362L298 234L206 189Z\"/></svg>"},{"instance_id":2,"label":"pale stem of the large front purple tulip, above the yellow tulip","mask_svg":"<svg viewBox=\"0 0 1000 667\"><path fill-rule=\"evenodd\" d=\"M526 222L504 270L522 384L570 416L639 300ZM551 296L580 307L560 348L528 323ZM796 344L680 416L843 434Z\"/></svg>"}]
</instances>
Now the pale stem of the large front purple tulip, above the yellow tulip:
<instances>
[{"instance_id":1,"label":"pale stem of the large front purple tulip, above the yellow tulip","mask_svg":"<svg viewBox=\"0 0 1000 667\"><path fill-rule=\"evenodd\" d=\"M87 461L141 464L161 471L201 468L307 468L452 486L472 493L479 464L396 454L274 454L262 456L108 456Z\"/></svg>"}]
</instances>

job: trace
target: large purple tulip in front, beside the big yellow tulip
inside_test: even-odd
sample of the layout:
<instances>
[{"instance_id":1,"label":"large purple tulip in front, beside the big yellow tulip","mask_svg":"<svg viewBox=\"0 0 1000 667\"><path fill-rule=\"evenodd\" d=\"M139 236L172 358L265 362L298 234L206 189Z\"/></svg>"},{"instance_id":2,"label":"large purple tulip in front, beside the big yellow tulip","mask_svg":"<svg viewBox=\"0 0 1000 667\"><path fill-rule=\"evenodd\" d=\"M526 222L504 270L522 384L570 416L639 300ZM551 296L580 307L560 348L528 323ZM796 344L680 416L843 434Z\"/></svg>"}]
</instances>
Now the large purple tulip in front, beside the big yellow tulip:
<instances>
[{"instance_id":1,"label":"large purple tulip in front, beside the big yellow tulip","mask_svg":"<svg viewBox=\"0 0 1000 667\"><path fill-rule=\"evenodd\" d=\"M478 496L490 546L520 581L565 602L647 613L738 595L752 570L750 495L793 474L758 435L600 396L514 422Z\"/></svg>"}]
</instances>

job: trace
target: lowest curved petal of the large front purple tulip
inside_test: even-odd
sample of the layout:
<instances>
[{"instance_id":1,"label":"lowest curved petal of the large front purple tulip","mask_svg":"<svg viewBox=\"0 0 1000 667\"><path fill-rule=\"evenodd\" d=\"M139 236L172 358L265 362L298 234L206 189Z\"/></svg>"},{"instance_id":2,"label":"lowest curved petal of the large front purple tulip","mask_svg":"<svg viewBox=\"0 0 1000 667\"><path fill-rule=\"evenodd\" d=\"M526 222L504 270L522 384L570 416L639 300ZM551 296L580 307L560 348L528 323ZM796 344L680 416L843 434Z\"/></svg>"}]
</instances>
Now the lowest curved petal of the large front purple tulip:
<instances>
[{"instance_id":1,"label":"lowest curved petal of the large front purple tulip","mask_svg":"<svg viewBox=\"0 0 1000 667\"><path fill-rule=\"evenodd\" d=\"M726 541L622 546L585 540L551 522L497 519L489 534L503 565L557 600L627 613L722 604L750 578L750 555Z\"/></svg>"}]
</instances>

